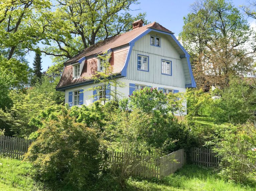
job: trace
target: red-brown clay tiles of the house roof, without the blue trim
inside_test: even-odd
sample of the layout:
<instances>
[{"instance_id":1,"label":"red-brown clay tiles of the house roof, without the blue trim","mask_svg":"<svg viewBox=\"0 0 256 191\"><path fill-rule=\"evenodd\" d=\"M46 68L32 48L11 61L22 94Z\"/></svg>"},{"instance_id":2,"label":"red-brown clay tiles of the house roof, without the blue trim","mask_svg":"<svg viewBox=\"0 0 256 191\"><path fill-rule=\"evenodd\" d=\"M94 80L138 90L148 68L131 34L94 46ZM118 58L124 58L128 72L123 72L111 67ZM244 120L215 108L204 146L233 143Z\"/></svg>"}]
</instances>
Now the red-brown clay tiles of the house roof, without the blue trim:
<instances>
[{"instance_id":1,"label":"red-brown clay tiles of the house roof, without the blue trim","mask_svg":"<svg viewBox=\"0 0 256 191\"><path fill-rule=\"evenodd\" d=\"M96 57L86 58L84 66L79 78L73 79L73 67L70 65L71 63L76 63L82 57L88 57L93 55L102 54L108 49L118 48L125 45L128 45L130 41L138 37L140 34L145 32L147 29L157 29L161 31L165 31L168 33L172 33L159 23L151 23L145 25L143 27L134 29L132 31L123 33L121 35L111 37L104 41L100 41L95 45L92 45L88 48L85 48L82 52L75 55L74 57L70 58L66 62L64 62L64 70L60 79L59 84L56 88L61 88L65 86L69 86L76 83L81 83L85 81L89 81L90 77L94 74L97 70L98 59ZM113 50L110 57L110 64L113 66L113 73L119 74L124 66L125 59L128 53L129 47L120 48L117 50Z\"/></svg>"}]
</instances>

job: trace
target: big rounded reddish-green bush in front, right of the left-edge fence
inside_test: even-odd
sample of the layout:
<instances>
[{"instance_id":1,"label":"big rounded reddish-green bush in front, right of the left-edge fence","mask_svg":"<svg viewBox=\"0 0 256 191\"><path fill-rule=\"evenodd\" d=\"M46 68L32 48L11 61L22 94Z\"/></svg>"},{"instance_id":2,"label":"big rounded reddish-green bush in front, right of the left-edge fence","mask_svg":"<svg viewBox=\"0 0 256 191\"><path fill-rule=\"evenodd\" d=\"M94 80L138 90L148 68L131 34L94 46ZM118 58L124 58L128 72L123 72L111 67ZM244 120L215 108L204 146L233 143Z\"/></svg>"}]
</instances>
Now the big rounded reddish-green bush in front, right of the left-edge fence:
<instances>
[{"instance_id":1,"label":"big rounded reddish-green bush in front, right of the left-edge fence","mask_svg":"<svg viewBox=\"0 0 256 191\"><path fill-rule=\"evenodd\" d=\"M56 118L42 121L38 134L25 156L35 168L36 179L74 189L88 186L98 172L97 132L76 123L70 110L62 107Z\"/></svg>"}]
</instances>

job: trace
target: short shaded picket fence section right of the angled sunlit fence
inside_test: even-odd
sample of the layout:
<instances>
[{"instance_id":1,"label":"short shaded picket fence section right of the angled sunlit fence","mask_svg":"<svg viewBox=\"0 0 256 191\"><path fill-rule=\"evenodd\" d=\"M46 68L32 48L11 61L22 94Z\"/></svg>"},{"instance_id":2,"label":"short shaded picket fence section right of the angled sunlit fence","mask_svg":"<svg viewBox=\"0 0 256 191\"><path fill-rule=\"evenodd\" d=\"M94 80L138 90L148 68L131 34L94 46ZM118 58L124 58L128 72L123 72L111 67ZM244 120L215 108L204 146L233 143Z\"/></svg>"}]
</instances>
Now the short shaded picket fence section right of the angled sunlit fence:
<instances>
[{"instance_id":1,"label":"short shaded picket fence section right of the angled sunlit fence","mask_svg":"<svg viewBox=\"0 0 256 191\"><path fill-rule=\"evenodd\" d=\"M190 155L191 161L194 164L205 167L219 166L219 158L217 153L213 152L209 148L192 147Z\"/></svg>"}]
</instances>

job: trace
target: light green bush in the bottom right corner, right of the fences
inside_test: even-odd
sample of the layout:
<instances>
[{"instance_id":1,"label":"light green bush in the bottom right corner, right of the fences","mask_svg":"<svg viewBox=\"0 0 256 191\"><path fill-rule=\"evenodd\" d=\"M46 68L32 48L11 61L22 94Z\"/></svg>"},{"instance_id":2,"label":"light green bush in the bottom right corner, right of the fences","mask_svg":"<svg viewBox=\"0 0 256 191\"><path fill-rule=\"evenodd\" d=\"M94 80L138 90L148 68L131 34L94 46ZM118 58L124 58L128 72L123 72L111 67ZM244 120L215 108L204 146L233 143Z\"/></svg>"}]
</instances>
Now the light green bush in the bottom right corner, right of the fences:
<instances>
[{"instance_id":1,"label":"light green bush in the bottom right corner, right of the fences","mask_svg":"<svg viewBox=\"0 0 256 191\"><path fill-rule=\"evenodd\" d=\"M236 183L256 181L256 129L254 126L231 124L217 126L214 148L221 158L221 175Z\"/></svg>"}]
</instances>

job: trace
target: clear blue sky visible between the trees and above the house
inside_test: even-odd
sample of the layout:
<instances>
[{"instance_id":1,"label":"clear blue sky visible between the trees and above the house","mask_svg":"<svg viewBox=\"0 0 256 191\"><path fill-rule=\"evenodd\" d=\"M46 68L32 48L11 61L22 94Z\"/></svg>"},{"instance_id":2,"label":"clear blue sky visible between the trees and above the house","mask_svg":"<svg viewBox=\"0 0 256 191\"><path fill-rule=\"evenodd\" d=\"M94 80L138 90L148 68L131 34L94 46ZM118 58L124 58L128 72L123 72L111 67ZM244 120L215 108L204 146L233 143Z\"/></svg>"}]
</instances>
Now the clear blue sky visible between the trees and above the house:
<instances>
[{"instance_id":1,"label":"clear blue sky visible between the trees and above the house","mask_svg":"<svg viewBox=\"0 0 256 191\"><path fill-rule=\"evenodd\" d=\"M167 29L175 33L178 36L182 31L183 17L190 12L190 5L195 2L195 0L140 0L140 5L132 6L132 15L137 15L139 12L147 13L147 20L151 22L158 22ZM233 4L236 7L239 5L247 4L246 0L233 0ZM140 9L140 10L136 10ZM255 21L248 19L249 23L255 26ZM29 61L29 66L32 67L34 53L30 53L27 56ZM47 69L48 66L52 65L50 56L42 55L42 68L43 71Z\"/></svg>"}]
</instances>

